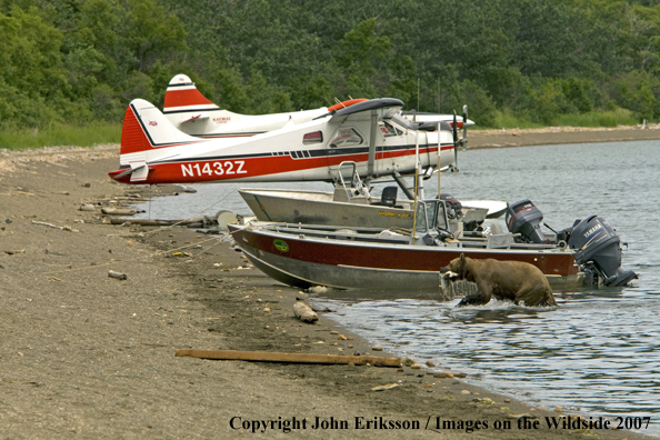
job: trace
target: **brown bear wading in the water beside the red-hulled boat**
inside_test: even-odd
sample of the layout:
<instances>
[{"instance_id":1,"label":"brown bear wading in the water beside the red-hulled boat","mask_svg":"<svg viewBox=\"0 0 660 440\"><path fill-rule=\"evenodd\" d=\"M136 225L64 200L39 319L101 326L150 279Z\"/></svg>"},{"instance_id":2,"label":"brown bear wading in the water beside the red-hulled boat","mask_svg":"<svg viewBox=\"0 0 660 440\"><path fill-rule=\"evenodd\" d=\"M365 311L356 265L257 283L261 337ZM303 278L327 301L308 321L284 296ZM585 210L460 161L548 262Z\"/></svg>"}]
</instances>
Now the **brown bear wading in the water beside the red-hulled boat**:
<instances>
[{"instance_id":1,"label":"brown bear wading in the water beside the red-hulled boat","mask_svg":"<svg viewBox=\"0 0 660 440\"><path fill-rule=\"evenodd\" d=\"M468 280L477 284L477 293L463 297L458 307L486 304L491 297L516 304L523 302L528 307L557 306L543 272L522 261L478 260L461 253L441 268L440 273L449 276L451 281Z\"/></svg>"}]
</instances>

